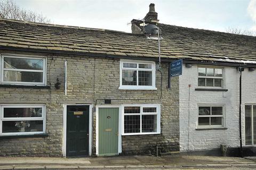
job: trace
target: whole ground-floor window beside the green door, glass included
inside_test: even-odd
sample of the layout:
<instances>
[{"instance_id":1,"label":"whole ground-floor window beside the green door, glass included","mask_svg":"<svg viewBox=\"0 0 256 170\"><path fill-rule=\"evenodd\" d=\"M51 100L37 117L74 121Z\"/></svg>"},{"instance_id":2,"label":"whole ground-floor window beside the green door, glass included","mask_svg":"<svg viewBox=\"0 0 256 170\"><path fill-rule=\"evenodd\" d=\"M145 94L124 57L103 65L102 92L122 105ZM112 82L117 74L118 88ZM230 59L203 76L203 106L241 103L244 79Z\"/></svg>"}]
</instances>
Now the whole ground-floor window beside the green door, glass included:
<instances>
[{"instance_id":1,"label":"whole ground-floor window beside the green door, glass included","mask_svg":"<svg viewBox=\"0 0 256 170\"><path fill-rule=\"evenodd\" d=\"M160 105L123 105L123 135L159 134Z\"/></svg>"}]
</instances>

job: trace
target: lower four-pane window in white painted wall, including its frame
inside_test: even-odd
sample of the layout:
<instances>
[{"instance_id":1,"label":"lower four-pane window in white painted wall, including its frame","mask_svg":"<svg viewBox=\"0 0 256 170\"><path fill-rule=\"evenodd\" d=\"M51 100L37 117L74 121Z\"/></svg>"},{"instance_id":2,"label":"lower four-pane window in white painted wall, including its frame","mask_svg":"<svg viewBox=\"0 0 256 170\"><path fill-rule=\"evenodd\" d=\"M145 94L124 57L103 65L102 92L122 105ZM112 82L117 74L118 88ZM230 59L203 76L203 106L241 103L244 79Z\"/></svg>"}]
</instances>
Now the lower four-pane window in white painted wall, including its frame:
<instances>
[{"instance_id":1,"label":"lower four-pane window in white painted wall, including its frame","mask_svg":"<svg viewBox=\"0 0 256 170\"><path fill-rule=\"evenodd\" d=\"M199 128L223 127L223 119L223 106L198 106Z\"/></svg>"}]
</instances>

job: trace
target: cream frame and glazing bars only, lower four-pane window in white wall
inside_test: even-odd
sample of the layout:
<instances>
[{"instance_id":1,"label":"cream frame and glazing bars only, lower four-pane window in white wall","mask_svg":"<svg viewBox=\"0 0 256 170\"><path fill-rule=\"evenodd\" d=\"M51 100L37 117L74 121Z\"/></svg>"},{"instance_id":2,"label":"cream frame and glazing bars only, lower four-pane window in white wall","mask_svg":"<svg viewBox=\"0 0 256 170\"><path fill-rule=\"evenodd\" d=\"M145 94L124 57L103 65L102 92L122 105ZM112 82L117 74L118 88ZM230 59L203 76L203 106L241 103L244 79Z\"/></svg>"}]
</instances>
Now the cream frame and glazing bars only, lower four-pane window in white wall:
<instances>
[{"instance_id":1,"label":"cream frame and glazing bars only, lower four-pane window in white wall","mask_svg":"<svg viewBox=\"0 0 256 170\"><path fill-rule=\"evenodd\" d=\"M212 114L212 107L222 107L222 115L199 115L199 107L211 107L211 114ZM197 106L197 129L211 129L211 128L225 128L225 105L198 105ZM221 125L199 125L199 117L222 117L221 119ZM211 118L210 118L210 124L211 124Z\"/></svg>"}]
</instances>

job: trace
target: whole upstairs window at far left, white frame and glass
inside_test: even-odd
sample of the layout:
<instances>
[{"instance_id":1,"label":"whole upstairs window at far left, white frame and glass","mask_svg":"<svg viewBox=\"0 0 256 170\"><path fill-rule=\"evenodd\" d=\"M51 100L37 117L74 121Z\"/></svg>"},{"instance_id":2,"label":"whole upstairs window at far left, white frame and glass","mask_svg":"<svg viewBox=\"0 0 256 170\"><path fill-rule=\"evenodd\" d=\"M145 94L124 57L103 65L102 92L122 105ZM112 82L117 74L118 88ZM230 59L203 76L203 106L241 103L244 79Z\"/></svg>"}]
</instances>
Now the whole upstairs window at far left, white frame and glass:
<instances>
[{"instance_id":1,"label":"whole upstairs window at far left, white frame and glass","mask_svg":"<svg viewBox=\"0 0 256 170\"><path fill-rule=\"evenodd\" d=\"M1 83L44 86L45 58L2 56Z\"/></svg>"}]
</instances>

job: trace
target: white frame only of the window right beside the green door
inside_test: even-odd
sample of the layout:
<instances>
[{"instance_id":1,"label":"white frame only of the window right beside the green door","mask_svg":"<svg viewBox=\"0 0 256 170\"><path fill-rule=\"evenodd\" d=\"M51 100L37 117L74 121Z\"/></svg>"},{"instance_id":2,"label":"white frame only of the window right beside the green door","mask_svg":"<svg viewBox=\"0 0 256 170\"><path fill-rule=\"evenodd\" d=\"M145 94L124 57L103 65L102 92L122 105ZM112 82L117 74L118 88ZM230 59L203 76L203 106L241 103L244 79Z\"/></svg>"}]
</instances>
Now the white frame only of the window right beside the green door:
<instances>
[{"instance_id":1,"label":"white frame only of the window right beside the green door","mask_svg":"<svg viewBox=\"0 0 256 170\"><path fill-rule=\"evenodd\" d=\"M138 114L124 114L124 107L140 107ZM156 107L157 113L143 113L143 107ZM160 104L124 104L122 109L122 135L140 135L140 134L161 134L161 105ZM124 115L140 115L140 132L139 133L124 133ZM142 115L157 115L156 132L142 132Z\"/></svg>"}]
</instances>

